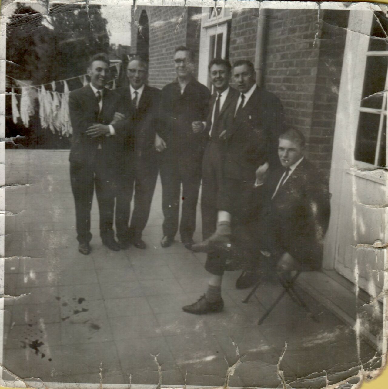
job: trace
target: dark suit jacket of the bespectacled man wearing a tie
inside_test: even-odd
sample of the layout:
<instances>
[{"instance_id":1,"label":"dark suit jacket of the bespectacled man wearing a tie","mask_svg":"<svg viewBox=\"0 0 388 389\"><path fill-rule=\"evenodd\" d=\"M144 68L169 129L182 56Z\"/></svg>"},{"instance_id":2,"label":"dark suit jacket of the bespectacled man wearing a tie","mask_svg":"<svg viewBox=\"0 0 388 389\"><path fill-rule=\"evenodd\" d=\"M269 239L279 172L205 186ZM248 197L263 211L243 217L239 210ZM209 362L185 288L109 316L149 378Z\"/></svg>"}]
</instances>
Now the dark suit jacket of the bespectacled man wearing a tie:
<instances>
[{"instance_id":1,"label":"dark suit jacket of the bespectacled man wearing a tie","mask_svg":"<svg viewBox=\"0 0 388 389\"><path fill-rule=\"evenodd\" d=\"M155 158L155 132L159 126L158 109L160 90L144 85L137 109L131 104L130 88L118 88L118 112L126 120L113 125L118 135L124 138L124 152L134 152L137 157Z\"/></svg>"}]
</instances>

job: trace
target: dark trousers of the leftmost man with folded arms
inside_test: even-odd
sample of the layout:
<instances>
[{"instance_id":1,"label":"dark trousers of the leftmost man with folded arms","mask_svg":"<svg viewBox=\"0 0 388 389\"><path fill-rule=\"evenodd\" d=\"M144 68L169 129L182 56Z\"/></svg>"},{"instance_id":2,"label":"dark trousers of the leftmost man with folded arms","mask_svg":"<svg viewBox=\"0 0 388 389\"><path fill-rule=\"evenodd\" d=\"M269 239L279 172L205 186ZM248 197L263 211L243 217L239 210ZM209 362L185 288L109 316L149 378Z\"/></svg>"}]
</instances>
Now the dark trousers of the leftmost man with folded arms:
<instances>
[{"instance_id":1,"label":"dark trousers of the leftmost man with folded arms","mask_svg":"<svg viewBox=\"0 0 388 389\"><path fill-rule=\"evenodd\" d=\"M100 213L100 235L105 238L113 237L113 212L115 207L115 176L113 169L106 166L106 161L97 151L94 163L86 165L70 162L70 181L75 202L77 223L77 240L89 243L90 210L96 186L96 195Z\"/></svg>"}]
</instances>

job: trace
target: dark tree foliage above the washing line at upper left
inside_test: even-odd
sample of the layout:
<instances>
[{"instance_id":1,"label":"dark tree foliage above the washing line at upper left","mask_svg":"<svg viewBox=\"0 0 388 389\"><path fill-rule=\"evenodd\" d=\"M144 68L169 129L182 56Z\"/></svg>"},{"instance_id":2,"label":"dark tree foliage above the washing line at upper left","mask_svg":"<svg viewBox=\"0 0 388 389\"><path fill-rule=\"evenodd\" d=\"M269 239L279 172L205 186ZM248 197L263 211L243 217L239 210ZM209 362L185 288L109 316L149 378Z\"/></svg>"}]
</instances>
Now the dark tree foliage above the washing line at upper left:
<instances>
[{"instance_id":1,"label":"dark tree foliage above the washing line at upper left","mask_svg":"<svg viewBox=\"0 0 388 389\"><path fill-rule=\"evenodd\" d=\"M85 74L93 54L107 52L100 6L58 4L43 15L19 4L7 25L7 74L34 84Z\"/></svg>"}]
</instances>

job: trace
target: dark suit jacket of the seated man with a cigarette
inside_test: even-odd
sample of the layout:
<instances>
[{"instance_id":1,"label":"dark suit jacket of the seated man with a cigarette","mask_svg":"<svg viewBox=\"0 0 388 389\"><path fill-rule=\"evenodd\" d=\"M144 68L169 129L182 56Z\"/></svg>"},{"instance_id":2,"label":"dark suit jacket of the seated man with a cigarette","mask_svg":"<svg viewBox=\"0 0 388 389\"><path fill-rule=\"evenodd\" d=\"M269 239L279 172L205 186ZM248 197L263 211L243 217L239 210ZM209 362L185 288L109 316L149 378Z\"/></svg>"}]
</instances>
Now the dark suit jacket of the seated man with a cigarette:
<instances>
[{"instance_id":1,"label":"dark suit jacket of the seated man with a cigarette","mask_svg":"<svg viewBox=\"0 0 388 389\"><path fill-rule=\"evenodd\" d=\"M330 218L328 187L322 174L304 158L271 199L283 173L283 167L277 168L258 187L258 203L263 207L260 246L270 252L289 252L306 270L319 269Z\"/></svg>"}]
</instances>

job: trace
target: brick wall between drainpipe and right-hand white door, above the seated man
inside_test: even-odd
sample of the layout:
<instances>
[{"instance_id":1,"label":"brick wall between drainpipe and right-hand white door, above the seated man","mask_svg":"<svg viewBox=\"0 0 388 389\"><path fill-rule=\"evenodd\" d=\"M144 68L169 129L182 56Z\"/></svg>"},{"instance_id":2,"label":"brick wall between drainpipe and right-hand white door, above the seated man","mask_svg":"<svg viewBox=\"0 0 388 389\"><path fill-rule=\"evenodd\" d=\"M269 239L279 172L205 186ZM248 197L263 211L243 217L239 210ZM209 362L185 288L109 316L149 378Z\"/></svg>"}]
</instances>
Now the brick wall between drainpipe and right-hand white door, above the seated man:
<instances>
[{"instance_id":1,"label":"brick wall between drainpipe and right-hand white door, above the seated man","mask_svg":"<svg viewBox=\"0 0 388 389\"><path fill-rule=\"evenodd\" d=\"M347 15L321 11L318 20L313 10L268 12L264 86L282 100L289 127L306 135L308 158L327 173Z\"/></svg>"}]
</instances>

